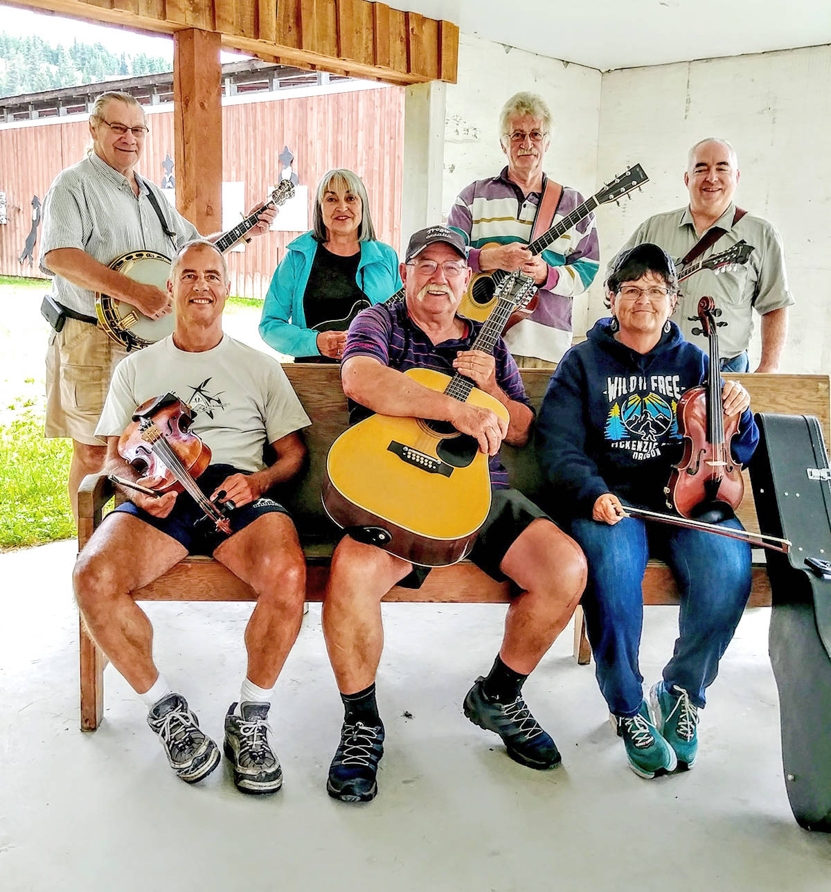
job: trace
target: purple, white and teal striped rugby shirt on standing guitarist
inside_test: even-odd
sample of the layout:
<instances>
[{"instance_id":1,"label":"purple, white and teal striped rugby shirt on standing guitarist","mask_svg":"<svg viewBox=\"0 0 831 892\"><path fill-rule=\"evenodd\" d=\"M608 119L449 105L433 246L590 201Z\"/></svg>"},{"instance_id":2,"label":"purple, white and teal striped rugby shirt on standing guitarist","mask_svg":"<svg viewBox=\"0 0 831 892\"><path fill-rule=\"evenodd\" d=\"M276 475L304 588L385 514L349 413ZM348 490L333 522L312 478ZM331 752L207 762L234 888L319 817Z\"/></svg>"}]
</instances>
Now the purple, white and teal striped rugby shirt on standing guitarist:
<instances>
[{"instance_id":1,"label":"purple, white and teal striped rugby shirt on standing guitarist","mask_svg":"<svg viewBox=\"0 0 831 892\"><path fill-rule=\"evenodd\" d=\"M510 244L531 241L531 230L539 206L540 193L527 196L508 179L504 168L496 177L480 179L466 186L458 195L448 226L465 236L470 244L468 263L474 273L481 272L479 252L490 242ZM567 217L583 196L563 187L552 226ZM549 272L539 286L537 309L505 335L509 350L517 356L534 356L559 362L572 346L572 302L583 293L597 274L600 248L593 214L561 235L542 252Z\"/></svg>"}]
</instances>

